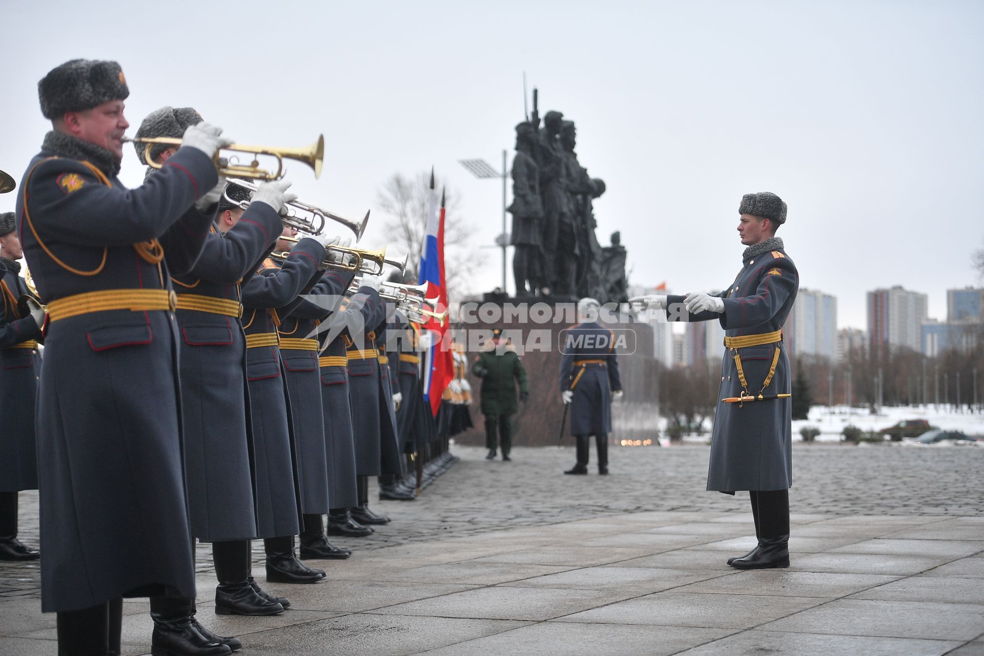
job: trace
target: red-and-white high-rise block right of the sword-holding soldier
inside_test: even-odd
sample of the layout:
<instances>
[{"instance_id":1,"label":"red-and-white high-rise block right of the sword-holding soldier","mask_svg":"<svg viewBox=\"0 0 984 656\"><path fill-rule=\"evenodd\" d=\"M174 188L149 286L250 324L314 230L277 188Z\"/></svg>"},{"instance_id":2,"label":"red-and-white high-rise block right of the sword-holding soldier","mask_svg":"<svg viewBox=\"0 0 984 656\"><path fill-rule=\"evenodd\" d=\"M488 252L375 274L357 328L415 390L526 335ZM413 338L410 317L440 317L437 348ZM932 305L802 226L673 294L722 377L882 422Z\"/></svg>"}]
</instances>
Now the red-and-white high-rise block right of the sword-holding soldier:
<instances>
[{"instance_id":1,"label":"red-and-white high-rise block right of the sword-holding soldier","mask_svg":"<svg viewBox=\"0 0 984 656\"><path fill-rule=\"evenodd\" d=\"M926 294L902 289L868 292L868 339L871 356L884 358L892 347L922 350L922 326L926 323Z\"/></svg>"}]
</instances>

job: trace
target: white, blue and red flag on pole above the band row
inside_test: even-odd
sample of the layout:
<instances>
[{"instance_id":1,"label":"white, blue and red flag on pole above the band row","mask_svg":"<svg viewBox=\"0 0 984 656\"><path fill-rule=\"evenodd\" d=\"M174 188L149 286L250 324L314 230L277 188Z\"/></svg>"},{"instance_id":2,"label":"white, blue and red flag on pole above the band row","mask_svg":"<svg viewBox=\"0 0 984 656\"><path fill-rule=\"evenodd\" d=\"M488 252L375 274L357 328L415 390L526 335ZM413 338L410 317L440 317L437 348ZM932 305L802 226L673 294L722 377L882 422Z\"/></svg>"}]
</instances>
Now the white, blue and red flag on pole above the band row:
<instances>
[{"instance_id":1,"label":"white, blue and red flag on pole above the band row","mask_svg":"<svg viewBox=\"0 0 984 656\"><path fill-rule=\"evenodd\" d=\"M448 288L444 276L444 221L445 197L441 192L441 211L437 209L437 191L434 189L434 169L431 169L430 195L427 202L427 233L423 253L420 256L420 277L417 284L427 284L427 298L437 298L437 311L448 308ZM424 352L422 388L424 400L430 403L436 417L441 407L441 397L455 377L454 356L449 348L443 348L448 322L438 322L433 317L423 327L431 336L430 346Z\"/></svg>"}]
</instances>

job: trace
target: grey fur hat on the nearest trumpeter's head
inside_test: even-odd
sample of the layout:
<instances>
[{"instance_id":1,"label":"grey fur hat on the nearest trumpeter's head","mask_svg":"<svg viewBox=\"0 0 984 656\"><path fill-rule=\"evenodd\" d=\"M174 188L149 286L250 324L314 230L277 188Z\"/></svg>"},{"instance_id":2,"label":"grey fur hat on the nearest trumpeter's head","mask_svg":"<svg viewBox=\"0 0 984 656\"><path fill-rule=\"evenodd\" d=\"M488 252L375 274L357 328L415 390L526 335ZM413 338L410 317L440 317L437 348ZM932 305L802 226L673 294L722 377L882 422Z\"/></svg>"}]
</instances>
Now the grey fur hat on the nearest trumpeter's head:
<instances>
[{"instance_id":1,"label":"grey fur hat on the nearest trumpeter's head","mask_svg":"<svg viewBox=\"0 0 984 656\"><path fill-rule=\"evenodd\" d=\"M44 118L54 120L66 112L84 111L130 95L120 65L112 61L73 59L48 71L37 83Z\"/></svg>"}]
</instances>

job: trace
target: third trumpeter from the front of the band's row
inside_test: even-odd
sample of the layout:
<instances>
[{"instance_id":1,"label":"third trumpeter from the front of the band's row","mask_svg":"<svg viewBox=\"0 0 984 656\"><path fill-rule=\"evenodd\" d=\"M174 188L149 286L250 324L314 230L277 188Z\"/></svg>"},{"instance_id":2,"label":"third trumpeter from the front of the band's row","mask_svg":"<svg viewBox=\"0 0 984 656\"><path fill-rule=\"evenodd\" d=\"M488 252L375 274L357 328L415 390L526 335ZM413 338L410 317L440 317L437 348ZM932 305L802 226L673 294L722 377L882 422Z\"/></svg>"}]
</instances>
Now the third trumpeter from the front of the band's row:
<instances>
[{"instance_id":1,"label":"third trumpeter from the front of the band's row","mask_svg":"<svg viewBox=\"0 0 984 656\"><path fill-rule=\"evenodd\" d=\"M295 197L287 195L286 201ZM284 236L296 230L283 229ZM293 536L301 530L301 485L296 460L297 445L283 384L277 327L277 308L294 303L298 295L319 279L318 267L325 245L338 237L277 240L277 252L289 255L282 265L267 259L242 287L243 329L246 332L246 378L250 393L256 475L257 536L264 538L267 580L281 583L313 583L325 577L297 559Z\"/></svg>"}]
</instances>

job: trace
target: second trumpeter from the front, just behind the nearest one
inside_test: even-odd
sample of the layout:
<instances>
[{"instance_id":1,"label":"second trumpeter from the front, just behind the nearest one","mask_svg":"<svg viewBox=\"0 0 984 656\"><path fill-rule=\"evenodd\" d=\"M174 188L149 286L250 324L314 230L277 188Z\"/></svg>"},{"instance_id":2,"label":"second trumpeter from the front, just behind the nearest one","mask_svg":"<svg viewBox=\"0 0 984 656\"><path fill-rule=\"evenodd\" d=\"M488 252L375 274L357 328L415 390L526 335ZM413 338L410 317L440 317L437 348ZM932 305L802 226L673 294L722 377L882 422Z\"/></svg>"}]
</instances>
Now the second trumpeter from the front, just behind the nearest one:
<instances>
[{"instance_id":1,"label":"second trumpeter from the front, just behind the nearest one","mask_svg":"<svg viewBox=\"0 0 984 656\"><path fill-rule=\"evenodd\" d=\"M137 137L176 137L202 117L191 107L161 107L141 123ZM141 161L146 149L135 144ZM161 164L176 151L155 145ZM148 177L156 170L148 166ZM224 232L214 229L198 263L172 275L180 328L181 410L184 462L192 535L212 542L215 612L222 615L276 615L283 606L260 594L249 576L249 542L256 535L252 449L246 417L246 339L239 323L239 285L274 246L282 226L286 183L266 183L243 209L223 198L218 217L231 218ZM232 186L233 190L241 187ZM226 191L225 194L237 191ZM249 202L249 193L242 194ZM289 605L289 602L288 602Z\"/></svg>"}]
</instances>

